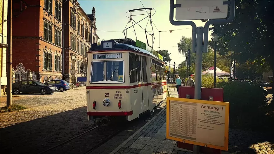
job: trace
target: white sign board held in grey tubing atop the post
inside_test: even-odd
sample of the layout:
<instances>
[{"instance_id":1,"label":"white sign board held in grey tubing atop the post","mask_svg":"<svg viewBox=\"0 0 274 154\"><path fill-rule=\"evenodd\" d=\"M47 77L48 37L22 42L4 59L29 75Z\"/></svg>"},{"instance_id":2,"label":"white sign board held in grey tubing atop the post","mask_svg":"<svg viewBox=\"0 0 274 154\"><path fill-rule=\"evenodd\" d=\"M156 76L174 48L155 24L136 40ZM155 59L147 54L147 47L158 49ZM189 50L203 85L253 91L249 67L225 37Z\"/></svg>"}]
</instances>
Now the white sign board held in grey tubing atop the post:
<instances>
[{"instance_id":1,"label":"white sign board held in grey tubing atop the post","mask_svg":"<svg viewBox=\"0 0 274 154\"><path fill-rule=\"evenodd\" d=\"M228 0L177 0L176 20L225 19Z\"/></svg>"}]
</instances>

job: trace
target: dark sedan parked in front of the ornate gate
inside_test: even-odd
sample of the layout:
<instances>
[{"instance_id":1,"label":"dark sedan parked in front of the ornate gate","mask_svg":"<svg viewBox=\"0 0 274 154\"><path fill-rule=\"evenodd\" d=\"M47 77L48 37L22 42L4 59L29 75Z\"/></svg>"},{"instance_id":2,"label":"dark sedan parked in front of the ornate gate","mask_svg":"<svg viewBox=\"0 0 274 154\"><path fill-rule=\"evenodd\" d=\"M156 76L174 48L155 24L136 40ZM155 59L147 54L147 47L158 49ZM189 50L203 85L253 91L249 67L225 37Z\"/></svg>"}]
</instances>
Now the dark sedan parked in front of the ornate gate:
<instances>
[{"instance_id":1,"label":"dark sedan parked in front of the ornate gate","mask_svg":"<svg viewBox=\"0 0 274 154\"><path fill-rule=\"evenodd\" d=\"M12 84L12 92L13 94L22 93L41 93L51 94L57 91L56 86L46 85L37 80L22 80Z\"/></svg>"}]
</instances>

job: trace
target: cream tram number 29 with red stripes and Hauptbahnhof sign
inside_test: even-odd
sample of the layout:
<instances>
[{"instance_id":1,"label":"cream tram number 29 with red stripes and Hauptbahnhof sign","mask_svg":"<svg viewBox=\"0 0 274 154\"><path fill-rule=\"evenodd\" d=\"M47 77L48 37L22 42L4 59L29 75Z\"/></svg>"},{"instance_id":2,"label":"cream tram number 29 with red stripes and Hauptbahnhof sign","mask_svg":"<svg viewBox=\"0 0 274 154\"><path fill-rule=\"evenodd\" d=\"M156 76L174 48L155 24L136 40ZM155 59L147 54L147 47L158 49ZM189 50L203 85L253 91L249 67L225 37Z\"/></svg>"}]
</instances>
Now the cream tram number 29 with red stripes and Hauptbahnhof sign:
<instances>
[{"instance_id":1,"label":"cream tram number 29 with red stripes and Hauptbahnhof sign","mask_svg":"<svg viewBox=\"0 0 274 154\"><path fill-rule=\"evenodd\" d=\"M88 51L87 115L96 125L107 125L117 116L131 121L150 113L167 96L162 56L137 41L101 41Z\"/></svg>"}]
</instances>

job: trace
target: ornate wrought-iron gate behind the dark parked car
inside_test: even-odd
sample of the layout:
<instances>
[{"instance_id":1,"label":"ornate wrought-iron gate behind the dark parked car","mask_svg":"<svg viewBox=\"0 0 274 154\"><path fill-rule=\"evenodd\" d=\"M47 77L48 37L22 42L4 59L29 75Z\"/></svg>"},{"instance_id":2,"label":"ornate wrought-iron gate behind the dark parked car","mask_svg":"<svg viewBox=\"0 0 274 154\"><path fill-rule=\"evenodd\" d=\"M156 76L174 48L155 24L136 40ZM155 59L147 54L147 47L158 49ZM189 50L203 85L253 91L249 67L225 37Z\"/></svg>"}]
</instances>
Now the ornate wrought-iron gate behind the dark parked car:
<instances>
[{"instance_id":1,"label":"ornate wrought-iron gate behind the dark parked car","mask_svg":"<svg viewBox=\"0 0 274 154\"><path fill-rule=\"evenodd\" d=\"M27 79L27 70L25 70L25 67L23 66L22 63L19 63L16 66L14 70L14 74L15 74L15 82ZM37 79L37 75L34 72L32 72L32 79L33 80Z\"/></svg>"}]
</instances>

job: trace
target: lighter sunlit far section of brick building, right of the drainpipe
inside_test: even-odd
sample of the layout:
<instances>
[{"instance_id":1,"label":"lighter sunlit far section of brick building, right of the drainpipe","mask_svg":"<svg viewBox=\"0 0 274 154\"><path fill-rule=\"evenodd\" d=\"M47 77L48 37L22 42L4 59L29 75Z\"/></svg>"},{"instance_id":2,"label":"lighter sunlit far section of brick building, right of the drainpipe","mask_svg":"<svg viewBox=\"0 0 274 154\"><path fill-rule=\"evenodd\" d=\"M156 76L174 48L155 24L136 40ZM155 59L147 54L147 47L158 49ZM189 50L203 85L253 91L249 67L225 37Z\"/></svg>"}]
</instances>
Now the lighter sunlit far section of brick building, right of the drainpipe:
<instances>
[{"instance_id":1,"label":"lighter sunlit far section of brick building, right of the drainpipe","mask_svg":"<svg viewBox=\"0 0 274 154\"><path fill-rule=\"evenodd\" d=\"M77 77L86 77L87 54L91 44L97 42L95 27L95 8L87 15L77 1L64 4L64 77L75 83Z\"/></svg>"}]
</instances>

